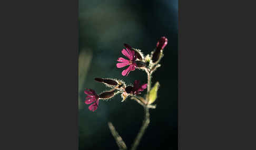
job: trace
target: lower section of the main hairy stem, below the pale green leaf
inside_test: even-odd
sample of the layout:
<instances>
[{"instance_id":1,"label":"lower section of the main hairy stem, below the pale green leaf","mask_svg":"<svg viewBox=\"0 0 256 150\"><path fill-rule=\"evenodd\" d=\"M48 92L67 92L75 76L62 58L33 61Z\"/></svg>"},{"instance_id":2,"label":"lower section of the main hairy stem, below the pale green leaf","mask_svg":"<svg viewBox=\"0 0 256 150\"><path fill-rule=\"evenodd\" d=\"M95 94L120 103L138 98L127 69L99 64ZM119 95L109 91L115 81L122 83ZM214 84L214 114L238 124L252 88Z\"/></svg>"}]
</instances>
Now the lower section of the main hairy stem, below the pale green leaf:
<instances>
[{"instance_id":1,"label":"lower section of the main hairy stem, below the pale green leaf","mask_svg":"<svg viewBox=\"0 0 256 150\"><path fill-rule=\"evenodd\" d=\"M145 133L145 130L146 130L147 126L149 126L149 123L150 123L149 108L144 106L144 111L145 111L145 116L144 116L143 124L141 126L139 134L135 138L135 141L132 145L131 150L135 150L137 148L137 146L139 145L139 143L141 141L141 138L142 138L143 134Z\"/></svg>"}]
</instances>

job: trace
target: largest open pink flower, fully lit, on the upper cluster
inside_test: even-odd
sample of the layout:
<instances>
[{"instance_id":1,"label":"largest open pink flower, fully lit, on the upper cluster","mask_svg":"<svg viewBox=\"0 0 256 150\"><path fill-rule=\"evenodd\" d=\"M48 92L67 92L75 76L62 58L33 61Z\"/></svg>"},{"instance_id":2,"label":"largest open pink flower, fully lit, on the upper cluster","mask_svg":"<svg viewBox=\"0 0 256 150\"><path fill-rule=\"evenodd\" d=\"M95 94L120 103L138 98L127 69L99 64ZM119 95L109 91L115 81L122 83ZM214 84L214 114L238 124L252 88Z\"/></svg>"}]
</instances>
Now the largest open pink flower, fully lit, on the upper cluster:
<instances>
[{"instance_id":1,"label":"largest open pink flower, fully lit, on the upper cluster","mask_svg":"<svg viewBox=\"0 0 256 150\"><path fill-rule=\"evenodd\" d=\"M126 49L122 50L122 53L124 56L126 56L127 58L129 58L129 60L124 59L122 57L118 58L117 61L119 61L120 63L116 63L116 67L117 68L122 68L125 67L127 65L129 65L129 67L125 70L123 70L122 75L123 76L128 76L128 74L130 73L130 71L134 71L136 68L136 57L135 57L135 51L132 50L132 47L124 44Z\"/></svg>"}]
</instances>

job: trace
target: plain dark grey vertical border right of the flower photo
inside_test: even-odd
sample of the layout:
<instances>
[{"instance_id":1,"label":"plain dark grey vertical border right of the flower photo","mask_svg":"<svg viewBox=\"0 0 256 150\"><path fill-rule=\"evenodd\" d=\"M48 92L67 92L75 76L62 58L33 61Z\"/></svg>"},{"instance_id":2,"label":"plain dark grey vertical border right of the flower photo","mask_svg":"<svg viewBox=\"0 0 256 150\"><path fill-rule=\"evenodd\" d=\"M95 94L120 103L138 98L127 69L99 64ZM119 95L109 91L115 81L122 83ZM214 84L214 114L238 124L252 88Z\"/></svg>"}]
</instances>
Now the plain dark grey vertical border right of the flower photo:
<instances>
[{"instance_id":1,"label":"plain dark grey vertical border right of the flower photo","mask_svg":"<svg viewBox=\"0 0 256 150\"><path fill-rule=\"evenodd\" d=\"M254 6L179 1L179 149L256 149Z\"/></svg>"}]
</instances>

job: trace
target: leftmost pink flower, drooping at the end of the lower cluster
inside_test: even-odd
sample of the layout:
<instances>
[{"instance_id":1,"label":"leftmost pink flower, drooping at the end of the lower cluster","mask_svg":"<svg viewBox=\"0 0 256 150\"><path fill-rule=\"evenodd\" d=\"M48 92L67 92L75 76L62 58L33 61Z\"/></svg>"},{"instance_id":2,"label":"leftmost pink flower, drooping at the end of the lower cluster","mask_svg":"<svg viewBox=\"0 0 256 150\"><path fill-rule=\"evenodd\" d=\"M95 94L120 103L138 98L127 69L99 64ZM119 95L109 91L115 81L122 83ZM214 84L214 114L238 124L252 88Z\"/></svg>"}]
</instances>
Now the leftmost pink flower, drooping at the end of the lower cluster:
<instances>
[{"instance_id":1,"label":"leftmost pink flower, drooping at the end of the lower cluster","mask_svg":"<svg viewBox=\"0 0 256 150\"><path fill-rule=\"evenodd\" d=\"M85 103L93 103L89 106L89 110L94 112L99 106L99 95L97 95L92 89L86 89L84 90L84 93L87 94L87 97L85 98Z\"/></svg>"}]
</instances>

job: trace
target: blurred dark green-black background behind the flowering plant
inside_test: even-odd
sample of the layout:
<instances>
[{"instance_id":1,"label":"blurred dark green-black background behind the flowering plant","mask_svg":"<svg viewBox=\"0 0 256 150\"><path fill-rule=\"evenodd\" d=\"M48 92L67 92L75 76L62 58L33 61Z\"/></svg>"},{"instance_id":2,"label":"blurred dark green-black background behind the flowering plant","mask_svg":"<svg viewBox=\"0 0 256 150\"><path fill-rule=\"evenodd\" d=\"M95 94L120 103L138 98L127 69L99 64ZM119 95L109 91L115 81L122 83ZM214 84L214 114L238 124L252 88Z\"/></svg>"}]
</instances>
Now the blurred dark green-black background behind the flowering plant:
<instances>
[{"instance_id":1,"label":"blurred dark green-black background behind the flowering plant","mask_svg":"<svg viewBox=\"0 0 256 150\"><path fill-rule=\"evenodd\" d=\"M117 58L127 43L150 53L157 40L165 36L161 67L152 78L152 85L160 82L156 109L151 109L151 122L138 149L178 149L178 0L161 1L78 1L79 10L79 149L118 149L107 122L130 148L143 121L141 105L130 98L121 102L117 95L100 101L95 112L84 103L84 88L97 93L108 89L94 81L95 77L122 79L127 84L134 80L146 83L146 73L131 71L128 77L116 68ZM145 92L142 93L142 95Z\"/></svg>"}]
</instances>

